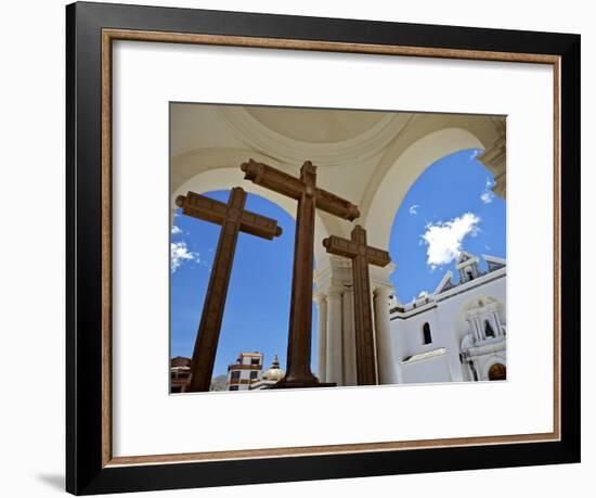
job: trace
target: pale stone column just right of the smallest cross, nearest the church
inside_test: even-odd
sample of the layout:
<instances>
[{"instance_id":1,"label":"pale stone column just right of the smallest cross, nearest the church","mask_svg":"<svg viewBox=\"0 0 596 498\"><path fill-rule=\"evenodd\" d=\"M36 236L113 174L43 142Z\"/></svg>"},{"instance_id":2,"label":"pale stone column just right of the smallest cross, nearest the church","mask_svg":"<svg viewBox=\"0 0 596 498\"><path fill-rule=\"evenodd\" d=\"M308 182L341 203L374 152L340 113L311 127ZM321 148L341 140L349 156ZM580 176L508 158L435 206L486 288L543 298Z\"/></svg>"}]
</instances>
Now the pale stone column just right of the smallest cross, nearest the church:
<instances>
[{"instance_id":1,"label":"pale stone column just right of the smallest cross, nearest the church","mask_svg":"<svg viewBox=\"0 0 596 498\"><path fill-rule=\"evenodd\" d=\"M378 286L375 289L375 334L377 342L377 365L379 384L398 384L398 365L393 355L391 339L391 321L389 319L389 296L391 288Z\"/></svg>"}]
</instances>

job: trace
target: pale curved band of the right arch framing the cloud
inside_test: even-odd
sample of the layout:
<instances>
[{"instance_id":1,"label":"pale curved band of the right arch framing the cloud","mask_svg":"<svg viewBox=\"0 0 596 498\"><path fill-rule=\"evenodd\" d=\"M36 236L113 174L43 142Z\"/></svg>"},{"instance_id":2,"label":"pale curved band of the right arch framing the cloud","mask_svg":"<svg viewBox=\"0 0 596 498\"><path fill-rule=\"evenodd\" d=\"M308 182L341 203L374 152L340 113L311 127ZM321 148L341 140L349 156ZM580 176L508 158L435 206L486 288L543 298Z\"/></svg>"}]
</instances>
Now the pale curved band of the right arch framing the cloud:
<instances>
[{"instance_id":1,"label":"pale curved band of the right arch framing the cloud","mask_svg":"<svg viewBox=\"0 0 596 498\"><path fill-rule=\"evenodd\" d=\"M383 178L377 177L376 191L363 207L361 222L367 230L368 242L387 247L393 220L410 188L438 159L465 149L484 149L484 145L467 129L443 128L414 141L390 162Z\"/></svg>"}]
</instances>

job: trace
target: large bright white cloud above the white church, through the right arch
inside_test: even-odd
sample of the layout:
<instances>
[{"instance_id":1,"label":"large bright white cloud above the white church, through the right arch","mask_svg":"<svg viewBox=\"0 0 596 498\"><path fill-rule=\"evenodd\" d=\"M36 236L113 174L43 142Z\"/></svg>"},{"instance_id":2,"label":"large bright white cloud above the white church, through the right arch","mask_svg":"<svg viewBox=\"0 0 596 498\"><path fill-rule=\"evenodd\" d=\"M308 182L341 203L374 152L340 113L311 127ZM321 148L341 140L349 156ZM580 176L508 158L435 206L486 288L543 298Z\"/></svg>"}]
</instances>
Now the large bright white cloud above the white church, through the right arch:
<instances>
[{"instance_id":1,"label":"large bright white cloud above the white church, through the right arch","mask_svg":"<svg viewBox=\"0 0 596 498\"><path fill-rule=\"evenodd\" d=\"M453 261L462 252L462 242L466 235L476 235L480 230L480 218L474 213L466 213L444 224L428 224L426 232L420 235L427 245L427 265L432 269Z\"/></svg>"}]
</instances>

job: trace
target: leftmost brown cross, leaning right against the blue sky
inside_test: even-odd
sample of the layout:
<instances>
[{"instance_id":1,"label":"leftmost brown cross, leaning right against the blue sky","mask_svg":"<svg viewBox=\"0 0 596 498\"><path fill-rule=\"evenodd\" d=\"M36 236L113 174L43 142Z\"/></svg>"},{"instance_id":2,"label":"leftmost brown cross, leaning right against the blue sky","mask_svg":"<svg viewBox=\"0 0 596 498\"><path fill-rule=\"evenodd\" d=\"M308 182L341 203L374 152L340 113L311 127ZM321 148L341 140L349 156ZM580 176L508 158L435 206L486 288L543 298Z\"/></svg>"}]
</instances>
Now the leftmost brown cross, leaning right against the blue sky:
<instances>
[{"instance_id":1,"label":"leftmost brown cross, leaning right against the blue sky","mask_svg":"<svg viewBox=\"0 0 596 498\"><path fill-rule=\"evenodd\" d=\"M186 386L190 393L209 391L238 232L272 240L282 229L276 220L245 210L246 192L239 187L232 189L228 204L194 192L180 195L176 204L184 215L221 225Z\"/></svg>"}]
</instances>

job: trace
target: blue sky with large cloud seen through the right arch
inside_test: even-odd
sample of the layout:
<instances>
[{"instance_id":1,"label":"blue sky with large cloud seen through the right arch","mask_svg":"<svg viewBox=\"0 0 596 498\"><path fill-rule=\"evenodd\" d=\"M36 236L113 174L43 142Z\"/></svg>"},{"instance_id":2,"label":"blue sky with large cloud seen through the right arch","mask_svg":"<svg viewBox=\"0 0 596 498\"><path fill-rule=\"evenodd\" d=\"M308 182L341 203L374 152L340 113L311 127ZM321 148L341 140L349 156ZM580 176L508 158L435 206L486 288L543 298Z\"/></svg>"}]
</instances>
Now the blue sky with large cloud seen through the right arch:
<instances>
[{"instance_id":1,"label":"blue sky with large cloud seen through the right arch","mask_svg":"<svg viewBox=\"0 0 596 498\"><path fill-rule=\"evenodd\" d=\"M393 221L391 281L402 303L432 293L445 272L457 280L461 250L506 257L505 202L490 188L493 175L466 150L437 161L412 186ZM485 269L481 260L480 267Z\"/></svg>"}]
</instances>

